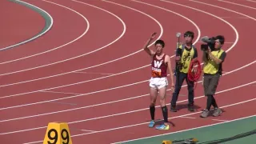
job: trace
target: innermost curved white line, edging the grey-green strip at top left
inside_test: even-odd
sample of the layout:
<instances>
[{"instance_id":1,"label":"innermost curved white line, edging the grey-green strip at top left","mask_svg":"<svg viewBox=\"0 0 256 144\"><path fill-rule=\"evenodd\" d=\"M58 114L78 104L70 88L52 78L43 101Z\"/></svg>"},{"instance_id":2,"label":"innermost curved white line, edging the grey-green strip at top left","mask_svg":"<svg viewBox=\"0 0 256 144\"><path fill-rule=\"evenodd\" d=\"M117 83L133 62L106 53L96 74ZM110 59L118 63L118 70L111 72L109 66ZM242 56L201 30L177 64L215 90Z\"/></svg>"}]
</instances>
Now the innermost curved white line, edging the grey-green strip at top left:
<instances>
[{"instance_id":1,"label":"innermost curved white line, edging the grey-green strip at top left","mask_svg":"<svg viewBox=\"0 0 256 144\"><path fill-rule=\"evenodd\" d=\"M39 8L38 6L34 6L34 5L32 5L32 4L28 3L28 2L23 2L23 1L20 1L20 0L16 0L16 1L22 2L22 3L26 3L27 5L30 5L30 6L36 7L36 8L39 9L39 10L42 10L42 9ZM30 38L30 39L28 39L28 40L26 40L26 41L19 42L19 43L15 44L15 45L12 45L12 46L3 47L3 48L0 49L0 51L6 50L6 49L10 49L11 47L14 47L14 46L22 45L22 44L24 44L24 43L26 43L26 42L30 42L30 41L32 41L32 40L38 38L38 37L41 37L43 34L46 34L46 33L52 28L52 26L54 25L54 19L51 17L51 15L50 15L49 13L46 12L46 10L42 10L42 11L43 11L44 13L46 13L46 14L49 16L50 21L51 21L50 26L48 27L48 29L46 29L44 32L42 32L42 34L38 34L37 36L35 36L35 37L33 37L33 38ZM2 63L0 63L0 64L2 64Z\"/></svg>"}]
</instances>

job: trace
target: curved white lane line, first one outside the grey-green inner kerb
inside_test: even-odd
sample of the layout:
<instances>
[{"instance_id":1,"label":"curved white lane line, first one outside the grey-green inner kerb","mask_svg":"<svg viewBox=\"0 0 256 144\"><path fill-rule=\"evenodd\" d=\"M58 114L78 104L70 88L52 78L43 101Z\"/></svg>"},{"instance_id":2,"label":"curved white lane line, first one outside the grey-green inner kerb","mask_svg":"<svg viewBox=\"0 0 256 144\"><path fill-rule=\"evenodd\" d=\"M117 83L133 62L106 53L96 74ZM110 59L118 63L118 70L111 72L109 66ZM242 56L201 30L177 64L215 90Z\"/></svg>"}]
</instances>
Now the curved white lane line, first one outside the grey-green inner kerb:
<instances>
[{"instance_id":1,"label":"curved white lane line, first one outside the grey-green inner kerb","mask_svg":"<svg viewBox=\"0 0 256 144\"><path fill-rule=\"evenodd\" d=\"M48 1L46 1L46 0L42 0L42 1L48 2ZM10 63L10 62L20 61L20 60L22 60L22 59L31 58L31 57L34 57L34 56L37 56L37 55L40 55L40 54L46 54L46 53L48 53L48 52L50 52L50 51L57 50L57 49L59 49L59 48L62 48L63 46L67 46L67 45L69 45L70 43L73 43L73 42L77 41L79 38L82 38L82 37L88 32L88 30L89 30L89 28L90 28L90 23L89 23L89 21L87 20L86 17L84 17L82 14L78 13L78 11L73 10L73 9L70 9L69 7L62 6L62 5L59 5L59 4L54 3L54 2L50 2L50 3L52 3L52 4L54 4L54 5L57 5L57 6L61 6L61 7L65 8L65 9L67 9L67 10L71 10L71 11L73 11L75 14L80 15L80 16L86 21L86 24L87 24L86 30L85 30L78 38L75 38L73 41L68 42L68 43L66 43L66 44L64 44L64 45L62 45L62 46L58 46L58 47L55 47L54 49L46 50L46 51L44 51L44 52L42 52L42 53L33 54L33 55L26 56L26 57L23 57L23 58L14 59L14 60L7 61L7 62L1 62L1 63L0 63L1 65L2 65L2 64L6 64L6 63ZM21 70L21 71L18 71L18 72L22 72L22 71L24 71L24 70ZM14 73L14 72L12 72L12 73L10 73L10 74L13 74L13 73ZM16 72L15 72L15 73L16 73ZM0 75L6 75L6 74L0 74Z\"/></svg>"}]
</instances>

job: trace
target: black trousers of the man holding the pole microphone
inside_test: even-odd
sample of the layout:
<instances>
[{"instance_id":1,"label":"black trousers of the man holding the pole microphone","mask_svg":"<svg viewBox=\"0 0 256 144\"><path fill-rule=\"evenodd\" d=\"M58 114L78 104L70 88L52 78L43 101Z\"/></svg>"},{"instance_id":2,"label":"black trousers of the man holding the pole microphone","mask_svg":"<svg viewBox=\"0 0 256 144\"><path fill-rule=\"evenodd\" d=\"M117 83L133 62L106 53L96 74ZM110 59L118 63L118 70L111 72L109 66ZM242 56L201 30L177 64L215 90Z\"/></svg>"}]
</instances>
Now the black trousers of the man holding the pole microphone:
<instances>
[{"instance_id":1,"label":"black trousers of the man holding the pole microphone","mask_svg":"<svg viewBox=\"0 0 256 144\"><path fill-rule=\"evenodd\" d=\"M187 74L185 73L179 73L179 76L177 78L176 76L176 84L175 84L175 91L173 94L173 98L170 101L171 106L176 106L176 102L178 100L178 94L182 88L182 83L186 79L186 84L187 84L187 90L189 92L188 94L188 100L190 105L194 104L194 82L190 82L187 78Z\"/></svg>"}]
</instances>

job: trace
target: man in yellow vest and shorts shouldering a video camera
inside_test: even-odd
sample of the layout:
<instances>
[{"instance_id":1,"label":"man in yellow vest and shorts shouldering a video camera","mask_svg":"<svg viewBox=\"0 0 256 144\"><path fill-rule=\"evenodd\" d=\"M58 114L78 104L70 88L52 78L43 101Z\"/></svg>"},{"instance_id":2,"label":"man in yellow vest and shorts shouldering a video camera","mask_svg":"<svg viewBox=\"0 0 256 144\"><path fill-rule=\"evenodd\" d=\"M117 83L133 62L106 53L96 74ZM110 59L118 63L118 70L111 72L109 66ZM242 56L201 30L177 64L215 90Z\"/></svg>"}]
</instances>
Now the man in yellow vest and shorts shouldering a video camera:
<instances>
[{"instance_id":1,"label":"man in yellow vest and shorts shouldering a video camera","mask_svg":"<svg viewBox=\"0 0 256 144\"><path fill-rule=\"evenodd\" d=\"M219 114L222 114L222 110L218 108L214 94L218 86L219 78L222 75L222 63L226 58L226 52L222 50L225 38L222 35L218 35L214 39L214 50L209 48L207 51L203 51L202 54L202 61L204 62L203 87L207 97L206 109L203 110L201 114L202 118L206 118L209 115L210 106L214 106L213 116L217 117Z\"/></svg>"}]
</instances>

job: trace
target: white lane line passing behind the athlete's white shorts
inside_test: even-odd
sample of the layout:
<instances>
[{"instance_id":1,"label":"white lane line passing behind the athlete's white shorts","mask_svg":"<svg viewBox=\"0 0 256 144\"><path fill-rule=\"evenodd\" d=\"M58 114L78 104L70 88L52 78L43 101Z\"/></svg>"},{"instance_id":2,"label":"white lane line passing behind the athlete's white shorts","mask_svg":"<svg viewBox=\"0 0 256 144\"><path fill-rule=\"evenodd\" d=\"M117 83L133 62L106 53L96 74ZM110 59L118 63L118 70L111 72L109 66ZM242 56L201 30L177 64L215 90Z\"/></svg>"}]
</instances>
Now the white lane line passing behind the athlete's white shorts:
<instances>
[{"instance_id":1,"label":"white lane line passing behind the athlete's white shorts","mask_svg":"<svg viewBox=\"0 0 256 144\"><path fill-rule=\"evenodd\" d=\"M254 61L254 62L256 62L256 61ZM222 76L224 76L226 74L231 74L231 73L233 73L233 72L235 72L237 70L241 70L241 69L243 69L243 68L245 68L247 66L250 66L250 65L254 64L254 62L250 62L249 64L247 64L245 66L239 67L238 69L226 72L225 74L222 74ZM145 80L145 81L142 81L142 82L148 82L148 80ZM139 83L142 83L142 82L134 82L134 83L130 83L130 84L124 85L124 86L113 87L113 88L106 89L106 90L98 90L98 91L94 91L94 92L90 92L90 93L86 93L86 94L78 94L78 95L74 95L74 96L70 96L70 97L65 97L65 98L56 98L56 99L52 99L52 100L41 101L41 102L34 102L34 103L23 104L23 105L18 105L18 106L9 106L9 107L0 108L0 110L13 109L13 108L22 107L22 106L32 106L32 105L36 105L36 104L40 104L40 103L54 102L54 101L58 101L58 100L62 100L62 99L68 99L68 98L77 98L77 97L82 97L82 96L89 95L89 94L97 94L97 93L100 93L100 92L103 92L103 91L115 90L115 89L119 89L119 88L126 87L126 86L133 86L133 85L136 85L136 84L139 84ZM199 81L199 82L202 82L202 81ZM199 82L197 82L197 83L199 83ZM184 85L184 86L187 86L187 85ZM184 86L182 86L182 87L184 87ZM56 92L56 93L58 93L58 92ZM109 102L106 102L106 103L109 103Z\"/></svg>"}]
</instances>

